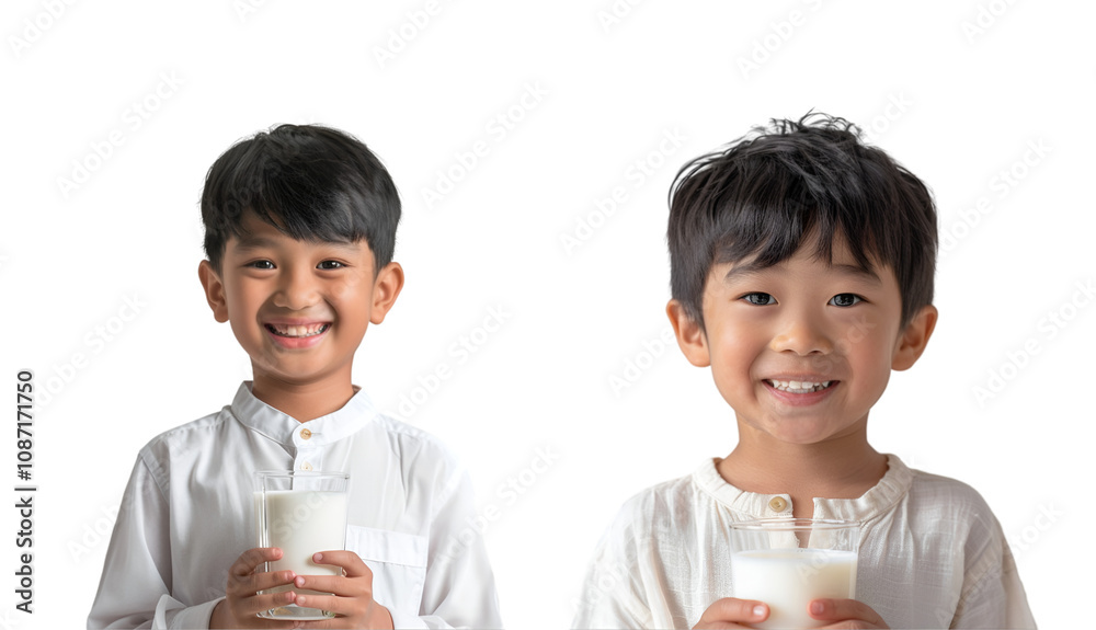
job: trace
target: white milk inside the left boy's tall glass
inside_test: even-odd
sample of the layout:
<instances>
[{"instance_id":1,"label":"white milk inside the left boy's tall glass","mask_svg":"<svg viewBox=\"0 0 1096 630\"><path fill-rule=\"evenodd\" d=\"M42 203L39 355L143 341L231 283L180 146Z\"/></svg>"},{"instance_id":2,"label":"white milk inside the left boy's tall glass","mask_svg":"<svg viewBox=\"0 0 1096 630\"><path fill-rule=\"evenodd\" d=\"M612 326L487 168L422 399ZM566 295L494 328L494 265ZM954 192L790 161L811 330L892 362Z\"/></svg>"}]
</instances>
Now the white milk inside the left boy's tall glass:
<instances>
[{"instance_id":1,"label":"white milk inside the left boy's tall glass","mask_svg":"<svg viewBox=\"0 0 1096 630\"><path fill-rule=\"evenodd\" d=\"M289 569L297 575L340 575L342 573L340 568L316 564L312 562L312 554L317 551L345 548L346 493L267 490L266 514L264 515L263 493L256 492L255 535L261 547L282 549L282 559L269 563L267 571ZM288 586L279 586L270 589L269 593L277 593L288 588ZM295 591L301 595L321 594L308 588L296 588ZM322 594L328 595L328 593ZM310 609L297 609L289 614L300 618L299 615L305 610Z\"/></svg>"}]
</instances>

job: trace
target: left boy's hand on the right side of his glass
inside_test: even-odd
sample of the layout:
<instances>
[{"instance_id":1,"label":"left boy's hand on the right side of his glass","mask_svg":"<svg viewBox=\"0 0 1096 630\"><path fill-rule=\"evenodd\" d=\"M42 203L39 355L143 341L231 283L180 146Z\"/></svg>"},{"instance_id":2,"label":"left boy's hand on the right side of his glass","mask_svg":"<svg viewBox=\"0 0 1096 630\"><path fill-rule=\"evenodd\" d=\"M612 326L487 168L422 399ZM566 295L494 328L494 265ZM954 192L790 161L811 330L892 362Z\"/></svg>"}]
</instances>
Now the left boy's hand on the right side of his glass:
<instances>
[{"instance_id":1,"label":"left boy's hand on the right side of his glass","mask_svg":"<svg viewBox=\"0 0 1096 630\"><path fill-rule=\"evenodd\" d=\"M297 588L333 595L297 595L297 606L330 610L339 617L305 621L298 628L392 628L392 616L373 598L373 571L353 551L321 551L312 555L317 564L342 568L342 575L298 575Z\"/></svg>"}]
</instances>

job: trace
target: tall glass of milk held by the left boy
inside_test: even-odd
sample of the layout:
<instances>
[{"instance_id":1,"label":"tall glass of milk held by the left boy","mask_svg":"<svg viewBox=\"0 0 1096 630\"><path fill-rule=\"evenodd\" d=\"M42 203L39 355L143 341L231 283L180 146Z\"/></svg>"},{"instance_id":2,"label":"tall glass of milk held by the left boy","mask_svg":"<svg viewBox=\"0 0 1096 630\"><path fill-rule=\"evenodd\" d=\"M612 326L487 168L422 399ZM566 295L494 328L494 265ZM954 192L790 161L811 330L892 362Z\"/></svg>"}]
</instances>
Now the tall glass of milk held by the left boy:
<instances>
[{"instance_id":1,"label":"tall glass of milk held by the left boy","mask_svg":"<svg viewBox=\"0 0 1096 630\"><path fill-rule=\"evenodd\" d=\"M297 575L341 575L338 566L317 564L312 554L346 547L346 489L350 474L263 470L255 473L256 547L278 547L282 559L262 571L292 570ZM261 593L288 591L292 585ZM294 588L301 595L330 595ZM333 612L290 604L260 614L267 619L329 619Z\"/></svg>"}]
</instances>

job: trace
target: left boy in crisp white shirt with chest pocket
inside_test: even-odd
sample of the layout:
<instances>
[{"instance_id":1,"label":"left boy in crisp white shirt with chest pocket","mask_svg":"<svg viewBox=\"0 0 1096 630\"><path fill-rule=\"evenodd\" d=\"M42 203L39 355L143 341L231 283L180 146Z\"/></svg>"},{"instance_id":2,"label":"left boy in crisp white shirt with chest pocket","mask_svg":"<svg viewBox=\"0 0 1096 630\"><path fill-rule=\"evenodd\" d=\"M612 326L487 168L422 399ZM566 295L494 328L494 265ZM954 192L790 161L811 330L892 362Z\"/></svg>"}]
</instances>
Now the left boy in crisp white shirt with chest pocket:
<instances>
[{"instance_id":1,"label":"left boy in crisp white shirt with chest pocket","mask_svg":"<svg viewBox=\"0 0 1096 630\"><path fill-rule=\"evenodd\" d=\"M346 134L282 125L214 163L202 218L202 286L254 379L141 449L88 627L292 628L256 614L293 603L338 614L306 628L501 626L482 540L456 536L467 474L351 382L403 286L385 167ZM282 551L254 548L252 476L272 469L350 473L346 549L312 558L342 575L263 572ZM333 595L256 594L286 584Z\"/></svg>"}]
</instances>

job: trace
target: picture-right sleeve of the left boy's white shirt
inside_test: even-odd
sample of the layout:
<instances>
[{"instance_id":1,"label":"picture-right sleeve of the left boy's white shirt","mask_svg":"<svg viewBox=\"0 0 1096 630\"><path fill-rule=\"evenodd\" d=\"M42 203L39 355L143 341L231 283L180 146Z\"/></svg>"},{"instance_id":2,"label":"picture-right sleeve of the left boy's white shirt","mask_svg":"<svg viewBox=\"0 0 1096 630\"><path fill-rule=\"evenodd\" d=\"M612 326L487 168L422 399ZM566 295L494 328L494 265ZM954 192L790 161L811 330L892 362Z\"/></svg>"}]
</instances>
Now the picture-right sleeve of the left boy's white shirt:
<instances>
[{"instance_id":1,"label":"picture-right sleeve of the left boy's white shirt","mask_svg":"<svg viewBox=\"0 0 1096 630\"><path fill-rule=\"evenodd\" d=\"M475 523L471 480L454 473L438 494L419 617L392 610L396 628L502 628L494 575Z\"/></svg>"}]
</instances>

